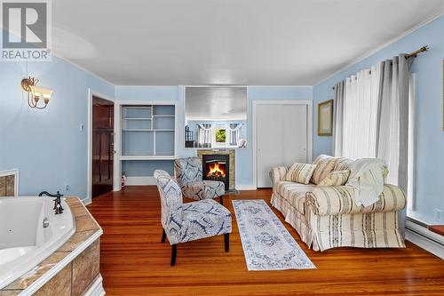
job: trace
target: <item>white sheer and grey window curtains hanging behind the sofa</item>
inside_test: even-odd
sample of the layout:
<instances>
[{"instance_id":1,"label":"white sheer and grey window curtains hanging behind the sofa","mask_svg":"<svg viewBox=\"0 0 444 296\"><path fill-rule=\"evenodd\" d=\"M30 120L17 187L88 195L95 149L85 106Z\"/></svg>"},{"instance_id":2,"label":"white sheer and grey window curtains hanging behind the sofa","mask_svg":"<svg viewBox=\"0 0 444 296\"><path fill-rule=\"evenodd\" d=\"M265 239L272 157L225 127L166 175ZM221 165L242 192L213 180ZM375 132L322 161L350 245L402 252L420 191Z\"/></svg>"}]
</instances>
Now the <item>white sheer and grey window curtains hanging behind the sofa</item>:
<instances>
[{"instance_id":1,"label":"white sheer and grey window curtains hanging behind the sofa","mask_svg":"<svg viewBox=\"0 0 444 296\"><path fill-rule=\"evenodd\" d=\"M405 54L379 62L345 79L344 92L335 103L335 155L385 160L387 183L408 194L414 207L415 76ZM343 99L341 102L340 99ZM342 107L342 109L341 109ZM400 212L403 232L405 212Z\"/></svg>"}]
</instances>

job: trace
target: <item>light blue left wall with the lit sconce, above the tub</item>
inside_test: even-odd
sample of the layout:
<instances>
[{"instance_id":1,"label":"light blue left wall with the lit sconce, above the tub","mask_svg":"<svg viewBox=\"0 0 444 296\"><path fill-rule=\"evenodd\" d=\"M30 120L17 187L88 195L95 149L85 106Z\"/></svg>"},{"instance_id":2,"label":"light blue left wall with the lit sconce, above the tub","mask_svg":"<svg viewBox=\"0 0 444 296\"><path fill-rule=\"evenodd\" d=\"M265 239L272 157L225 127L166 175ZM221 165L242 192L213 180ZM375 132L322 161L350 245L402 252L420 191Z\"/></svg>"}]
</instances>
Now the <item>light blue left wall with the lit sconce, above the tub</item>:
<instances>
[{"instance_id":1,"label":"light blue left wall with the lit sconce, above the tub","mask_svg":"<svg viewBox=\"0 0 444 296\"><path fill-rule=\"evenodd\" d=\"M54 91L47 108L28 107L25 76ZM88 88L114 97L114 85L56 57L29 62L28 74L25 62L0 62L0 171L20 170L20 195L69 185L68 194L86 196Z\"/></svg>"}]
</instances>

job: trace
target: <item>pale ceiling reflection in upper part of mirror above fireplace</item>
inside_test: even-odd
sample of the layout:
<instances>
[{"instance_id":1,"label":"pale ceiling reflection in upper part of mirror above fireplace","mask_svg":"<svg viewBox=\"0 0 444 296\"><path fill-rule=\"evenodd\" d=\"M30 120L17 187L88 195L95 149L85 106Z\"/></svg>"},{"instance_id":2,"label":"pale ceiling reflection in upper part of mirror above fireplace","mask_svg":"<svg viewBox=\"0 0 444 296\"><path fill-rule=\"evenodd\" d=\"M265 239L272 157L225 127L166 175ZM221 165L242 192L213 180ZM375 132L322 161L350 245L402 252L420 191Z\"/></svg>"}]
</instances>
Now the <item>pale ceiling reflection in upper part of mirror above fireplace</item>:
<instances>
[{"instance_id":1,"label":"pale ceiling reflection in upper part of mirror above fireplace","mask_svg":"<svg viewBox=\"0 0 444 296\"><path fill-rule=\"evenodd\" d=\"M247 120L246 87L186 87L186 121Z\"/></svg>"}]
</instances>

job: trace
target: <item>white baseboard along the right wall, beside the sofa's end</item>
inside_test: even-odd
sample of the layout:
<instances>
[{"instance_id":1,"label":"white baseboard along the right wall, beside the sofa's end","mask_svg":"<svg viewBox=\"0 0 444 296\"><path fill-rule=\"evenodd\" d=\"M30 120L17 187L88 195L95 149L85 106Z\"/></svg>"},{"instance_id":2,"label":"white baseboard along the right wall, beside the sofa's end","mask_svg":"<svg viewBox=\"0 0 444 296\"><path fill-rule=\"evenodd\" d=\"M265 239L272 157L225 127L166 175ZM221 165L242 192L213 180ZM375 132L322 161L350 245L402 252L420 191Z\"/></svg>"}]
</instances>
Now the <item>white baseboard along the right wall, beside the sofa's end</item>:
<instances>
[{"instance_id":1,"label":"white baseboard along the right wall, beside the sofa's end","mask_svg":"<svg viewBox=\"0 0 444 296\"><path fill-rule=\"evenodd\" d=\"M444 236L440 236L412 221L406 222L406 239L433 255L444 259Z\"/></svg>"}]
</instances>

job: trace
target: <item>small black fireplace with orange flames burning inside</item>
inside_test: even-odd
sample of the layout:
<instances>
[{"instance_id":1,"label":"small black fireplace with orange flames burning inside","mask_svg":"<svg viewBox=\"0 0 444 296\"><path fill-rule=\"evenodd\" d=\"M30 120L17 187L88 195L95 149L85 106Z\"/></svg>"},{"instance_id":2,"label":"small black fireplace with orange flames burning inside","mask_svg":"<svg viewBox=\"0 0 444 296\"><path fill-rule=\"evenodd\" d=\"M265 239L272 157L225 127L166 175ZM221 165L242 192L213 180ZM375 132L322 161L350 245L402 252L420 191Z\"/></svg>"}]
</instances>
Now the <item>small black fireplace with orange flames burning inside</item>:
<instances>
[{"instance_id":1,"label":"small black fireplace with orange flames burning inside","mask_svg":"<svg viewBox=\"0 0 444 296\"><path fill-rule=\"evenodd\" d=\"M229 189L230 180L230 156L228 155L203 155L202 156L203 180L218 180L224 182L225 189Z\"/></svg>"}]
</instances>

